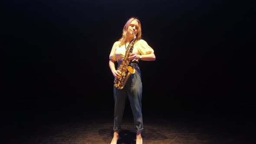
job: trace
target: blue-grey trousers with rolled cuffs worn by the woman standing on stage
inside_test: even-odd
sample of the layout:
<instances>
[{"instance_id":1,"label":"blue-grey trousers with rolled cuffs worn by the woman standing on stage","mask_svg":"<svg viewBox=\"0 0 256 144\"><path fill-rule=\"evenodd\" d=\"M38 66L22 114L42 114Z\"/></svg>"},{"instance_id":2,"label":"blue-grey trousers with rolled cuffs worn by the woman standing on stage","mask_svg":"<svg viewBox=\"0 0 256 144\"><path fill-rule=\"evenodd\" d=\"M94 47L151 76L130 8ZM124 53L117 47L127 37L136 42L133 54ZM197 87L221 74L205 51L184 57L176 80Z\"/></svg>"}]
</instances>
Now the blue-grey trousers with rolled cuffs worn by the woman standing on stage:
<instances>
[{"instance_id":1,"label":"blue-grey trousers with rolled cuffs worn by the woman standing on stage","mask_svg":"<svg viewBox=\"0 0 256 144\"><path fill-rule=\"evenodd\" d=\"M131 105L131 111L134 118L135 131L139 132L143 130L143 119L142 119L142 109L141 109L141 99L142 99L142 82L141 82L141 72L137 63L132 63L135 65L135 74L131 74L127 80L125 87L123 89L116 89L114 87L114 131L121 130L121 124L123 119L123 113L125 109L125 101L128 100Z\"/></svg>"}]
</instances>

